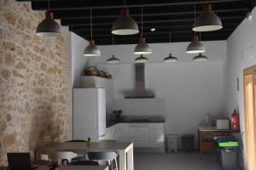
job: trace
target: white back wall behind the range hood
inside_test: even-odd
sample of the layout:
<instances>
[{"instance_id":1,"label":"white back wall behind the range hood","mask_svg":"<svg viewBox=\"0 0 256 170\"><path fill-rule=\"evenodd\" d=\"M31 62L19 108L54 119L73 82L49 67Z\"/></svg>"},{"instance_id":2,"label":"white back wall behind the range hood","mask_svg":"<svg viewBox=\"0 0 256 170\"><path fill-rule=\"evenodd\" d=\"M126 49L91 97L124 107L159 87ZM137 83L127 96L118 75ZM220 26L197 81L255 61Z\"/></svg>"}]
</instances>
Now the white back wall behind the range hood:
<instances>
[{"instance_id":1,"label":"white back wall behind the range hood","mask_svg":"<svg viewBox=\"0 0 256 170\"><path fill-rule=\"evenodd\" d=\"M153 54L147 55L151 62L145 65L146 88L153 91L156 99L164 99L166 133L194 133L197 126L204 122L204 116L223 115L223 59L226 57L226 42L204 42L210 61L193 62L195 55L185 54L189 42L149 44ZM135 70L132 54L135 45L100 46L103 56L97 59L97 66L110 71L113 75L114 99L124 104L124 96L135 91ZM163 63L170 51L180 60L177 63ZM112 54L121 59L119 65L105 65L103 62ZM152 102L137 99L137 105L124 115L134 115L134 108L155 108ZM123 102L123 103L122 103ZM120 104L122 103L122 104ZM119 105L113 108L121 109ZM126 105L127 101L126 101ZM137 111L147 115L147 109ZM154 109L152 109L154 110ZM160 111L160 112L161 112ZM151 113L150 113L151 114ZM155 111L158 116L160 113Z\"/></svg>"}]
</instances>

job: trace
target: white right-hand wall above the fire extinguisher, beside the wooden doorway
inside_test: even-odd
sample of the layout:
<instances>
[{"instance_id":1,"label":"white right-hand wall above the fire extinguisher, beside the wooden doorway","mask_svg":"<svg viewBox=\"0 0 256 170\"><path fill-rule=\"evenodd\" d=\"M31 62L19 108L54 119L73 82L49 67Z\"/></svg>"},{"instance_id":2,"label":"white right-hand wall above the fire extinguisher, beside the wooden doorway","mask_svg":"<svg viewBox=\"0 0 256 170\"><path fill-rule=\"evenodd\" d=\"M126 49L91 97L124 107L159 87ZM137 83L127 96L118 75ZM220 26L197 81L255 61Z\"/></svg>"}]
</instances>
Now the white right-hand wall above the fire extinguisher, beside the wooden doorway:
<instances>
[{"instance_id":1,"label":"white right-hand wall above the fire extinguisher, beside the wooden doorway","mask_svg":"<svg viewBox=\"0 0 256 170\"><path fill-rule=\"evenodd\" d=\"M224 60L225 113L230 115L238 109L241 122L241 151L245 162L245 122L243 107L243 70L256 65L256 9L253 19L243 20L241 25L227 40L227 59ZM236 90L236 78L239 78L240 90Z\"/></svg>"}]
</instances>

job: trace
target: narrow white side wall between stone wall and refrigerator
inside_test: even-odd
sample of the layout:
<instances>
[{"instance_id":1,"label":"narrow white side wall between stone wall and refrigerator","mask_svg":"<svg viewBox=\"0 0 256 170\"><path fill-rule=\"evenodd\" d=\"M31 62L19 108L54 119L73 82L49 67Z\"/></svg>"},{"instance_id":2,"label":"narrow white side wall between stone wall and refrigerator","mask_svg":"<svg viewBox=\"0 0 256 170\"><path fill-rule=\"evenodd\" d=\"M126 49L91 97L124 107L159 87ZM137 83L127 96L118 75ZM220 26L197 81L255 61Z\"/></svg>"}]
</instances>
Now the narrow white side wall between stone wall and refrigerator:
<instances>
[{"instance_id":1,"label":"narrow white side wall between stone wall and refrigerator","mask_svg":"<svg viewBox=\"0 0 256 170\"><path fill-rule=\"evenodd\" d=\"M83 55L84 48L88 45L88 41L77 34L70 31L70 59L69 59L69 83L70 83L70 129L73 138L73 88L79 88L79 78L84 75L85 68L88 65L95 65L94 58L88 58Z\"/></svg>"}]
</instances>

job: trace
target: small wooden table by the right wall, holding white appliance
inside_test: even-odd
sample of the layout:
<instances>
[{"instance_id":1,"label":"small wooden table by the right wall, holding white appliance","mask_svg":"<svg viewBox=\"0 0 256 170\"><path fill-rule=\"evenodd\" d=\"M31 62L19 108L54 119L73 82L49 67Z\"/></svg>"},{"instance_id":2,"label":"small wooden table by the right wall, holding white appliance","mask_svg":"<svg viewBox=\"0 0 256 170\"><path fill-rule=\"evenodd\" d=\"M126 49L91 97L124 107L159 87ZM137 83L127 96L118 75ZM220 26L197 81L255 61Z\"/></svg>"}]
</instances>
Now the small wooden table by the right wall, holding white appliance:
<instances>
[{"instance_id":1,"label":"small wooden table by the right wall, holding white appliance","mask_svg":"<svg viewBox=\"0 0 256 170\"><path fill-rule=\"evenodd\" d=\"M204 127L204 126L198 127L198 148L200 150L201 156L203 154L203 151L201 150L203 137L205 134L209 134L209 133L222 133L222 134L230 135L231 130L230 129L220 130L220 129L217 129L216 127Z\"/></svg>"}]
</instances>

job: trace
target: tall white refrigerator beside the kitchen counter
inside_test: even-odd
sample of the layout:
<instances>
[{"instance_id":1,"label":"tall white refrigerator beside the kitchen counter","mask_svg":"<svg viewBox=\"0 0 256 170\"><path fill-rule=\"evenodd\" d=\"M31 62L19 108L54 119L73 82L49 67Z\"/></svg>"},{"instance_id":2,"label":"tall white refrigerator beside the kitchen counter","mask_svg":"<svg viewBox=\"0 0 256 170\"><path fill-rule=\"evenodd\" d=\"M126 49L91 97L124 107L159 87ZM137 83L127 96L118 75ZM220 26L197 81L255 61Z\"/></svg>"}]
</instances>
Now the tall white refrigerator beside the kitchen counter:
<instances>
[{"instance_id":1,"label":"tall white refrigerator beside the kitchen counter","mask_svg":"<svg viewBox=\"0 0 256 170\"><path fill-rule=\"evenodd\" d=\"M106 89L73 88L73 139L98 141L106 134Z\"/></svg>"}]
</instances>

